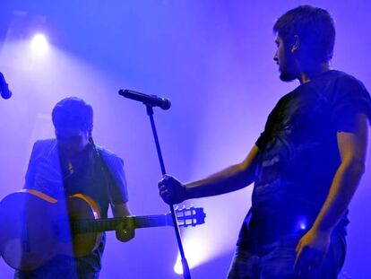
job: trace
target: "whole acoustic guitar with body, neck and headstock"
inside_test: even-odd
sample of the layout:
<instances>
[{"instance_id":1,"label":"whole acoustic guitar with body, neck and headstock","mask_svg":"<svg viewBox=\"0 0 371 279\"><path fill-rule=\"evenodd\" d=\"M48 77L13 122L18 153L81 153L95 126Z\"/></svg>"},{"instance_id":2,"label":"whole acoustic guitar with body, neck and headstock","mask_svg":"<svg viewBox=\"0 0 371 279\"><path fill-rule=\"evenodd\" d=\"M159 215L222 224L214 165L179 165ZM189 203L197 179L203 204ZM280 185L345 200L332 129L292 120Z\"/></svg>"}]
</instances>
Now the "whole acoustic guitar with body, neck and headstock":
<instances>
[{"instance_id":1,"label":"whole acoustic guitar with body, neck and headstock","mask_svg":"<svg viewBox=\"0 0 371 279\"><path fill-rule=\"evenodd\" d=\"M179 226L204 223L203 208L176 211ZM0 255L7 265L30 271L56 255L82 257L98 248L103 231L134 219L135 228L173 226L170 214L101 219L98 205L82 194L56 200L33 189L0 202Z\"/></svg>"}]
</instances>

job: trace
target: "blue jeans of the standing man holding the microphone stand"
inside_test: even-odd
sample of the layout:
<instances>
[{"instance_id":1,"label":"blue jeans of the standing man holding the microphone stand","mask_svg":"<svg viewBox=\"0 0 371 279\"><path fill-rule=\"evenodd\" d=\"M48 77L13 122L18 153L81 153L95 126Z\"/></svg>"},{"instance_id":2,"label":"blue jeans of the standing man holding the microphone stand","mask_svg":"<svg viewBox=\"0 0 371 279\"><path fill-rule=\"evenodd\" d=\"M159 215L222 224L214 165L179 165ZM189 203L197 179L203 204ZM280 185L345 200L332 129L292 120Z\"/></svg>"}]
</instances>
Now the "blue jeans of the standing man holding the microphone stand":
<instances>
[{"instance_id":1,"label":"blue jeans of the standing man holding the microphone stand","mask_svg":"<svg viewBox=\"0 0 371 279\"><path fill-rule=\"evenodd\" d=\"M345 259L345 237L333 235L323 265L311 274L298 276L294 271L295 249L301 237L285 235L259 245L252 241L237 246L228 279L336 279Z\"/></svg>"}]
</instances>

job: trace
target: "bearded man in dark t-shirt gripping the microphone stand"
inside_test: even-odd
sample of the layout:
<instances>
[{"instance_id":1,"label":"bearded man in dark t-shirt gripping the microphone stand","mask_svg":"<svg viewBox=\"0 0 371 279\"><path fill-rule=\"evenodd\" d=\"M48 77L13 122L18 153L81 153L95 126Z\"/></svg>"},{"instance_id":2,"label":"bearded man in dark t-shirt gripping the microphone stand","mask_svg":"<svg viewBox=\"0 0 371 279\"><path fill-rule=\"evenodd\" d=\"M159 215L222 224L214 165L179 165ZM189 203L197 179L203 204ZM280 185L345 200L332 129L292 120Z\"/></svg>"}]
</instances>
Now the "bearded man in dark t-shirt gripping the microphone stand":
<instances>
[{"instance_id":1,"label":"bearded man in dark t-shirt gripping the microphone stand","mask_svg":"<svg viewBox=\"0 0 371 279\"><path fill-rule=\"evenodd\" d=\"M255 183L229 270L236 278L335 279L345 257L347 208L365 171L371 100L362 83L330 68L331 15L299 6L274 24L282 97L241 163L206 179L159 183L168 204Z\"/></svg>"}]
</instances>

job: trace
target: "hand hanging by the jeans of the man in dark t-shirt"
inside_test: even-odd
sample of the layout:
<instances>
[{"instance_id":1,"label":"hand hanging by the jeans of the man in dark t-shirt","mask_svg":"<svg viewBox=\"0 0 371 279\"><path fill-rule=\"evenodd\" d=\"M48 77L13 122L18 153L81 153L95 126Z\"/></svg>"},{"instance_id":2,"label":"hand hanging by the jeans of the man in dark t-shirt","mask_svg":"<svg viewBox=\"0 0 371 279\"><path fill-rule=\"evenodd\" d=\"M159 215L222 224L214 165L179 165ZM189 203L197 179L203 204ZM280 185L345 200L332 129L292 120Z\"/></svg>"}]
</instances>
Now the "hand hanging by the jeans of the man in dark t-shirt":
<instances>
[{"instance_id":1,"label":"hand hanging by the jeans of the man in dark t-shirt","mask_svg":"<svg viewBox=\"0 0 371 279\"><path fill-rule=\"evenodd\" d=\"M330 247L331 232L311 229L298 242L295 270L306 275L317 270L324 262Z\"/></svg>"}]
</instances>

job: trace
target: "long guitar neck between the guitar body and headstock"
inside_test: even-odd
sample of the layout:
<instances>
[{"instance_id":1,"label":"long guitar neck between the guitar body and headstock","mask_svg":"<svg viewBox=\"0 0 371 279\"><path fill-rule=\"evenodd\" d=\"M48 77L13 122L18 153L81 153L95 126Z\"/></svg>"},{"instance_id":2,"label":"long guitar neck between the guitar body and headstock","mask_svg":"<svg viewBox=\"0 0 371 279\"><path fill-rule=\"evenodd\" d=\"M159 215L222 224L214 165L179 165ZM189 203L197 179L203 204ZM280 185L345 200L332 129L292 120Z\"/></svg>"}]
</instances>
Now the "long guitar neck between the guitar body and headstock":
<instances>
[{"instance_id":1,"label":"long guitar neck between the guitar body and headstock","mask_svg":"<svg viewBox=\"0 0 371 279\"><path fill-rule=\"evenodd\" d=\"M121 222L126 222L127 218L134 219L134 226L136 229L173 225L171 220L168 220L166 214L162 214L99 220L78 220L71 222L71 228L72 231L76 233L115 231L117 225Z\"/></svg>"}]
</instances>

